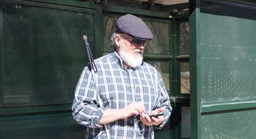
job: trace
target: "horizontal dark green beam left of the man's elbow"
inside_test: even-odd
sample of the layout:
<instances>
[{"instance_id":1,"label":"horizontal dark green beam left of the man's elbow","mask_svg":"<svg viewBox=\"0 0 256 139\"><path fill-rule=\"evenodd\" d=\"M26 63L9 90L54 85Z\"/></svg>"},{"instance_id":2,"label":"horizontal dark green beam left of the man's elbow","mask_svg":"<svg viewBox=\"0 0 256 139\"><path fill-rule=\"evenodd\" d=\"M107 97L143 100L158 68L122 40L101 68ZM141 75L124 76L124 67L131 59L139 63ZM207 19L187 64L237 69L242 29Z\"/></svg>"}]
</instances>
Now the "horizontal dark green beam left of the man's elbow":
<instances>
[{"instance_id":1,"label":"horizontal dark green beam left of the man's elbow","mask_svg":"<svg viewBox=\"0 0 256 139\"><path fill-rule=\"evenodd\" d=\"M15 108L0 108L0 117L10 115L26 115L29 113L52 113L56 111L71 111L72 104L62 104L53 106L26 106Z\"/></svg>"}]
</instances>

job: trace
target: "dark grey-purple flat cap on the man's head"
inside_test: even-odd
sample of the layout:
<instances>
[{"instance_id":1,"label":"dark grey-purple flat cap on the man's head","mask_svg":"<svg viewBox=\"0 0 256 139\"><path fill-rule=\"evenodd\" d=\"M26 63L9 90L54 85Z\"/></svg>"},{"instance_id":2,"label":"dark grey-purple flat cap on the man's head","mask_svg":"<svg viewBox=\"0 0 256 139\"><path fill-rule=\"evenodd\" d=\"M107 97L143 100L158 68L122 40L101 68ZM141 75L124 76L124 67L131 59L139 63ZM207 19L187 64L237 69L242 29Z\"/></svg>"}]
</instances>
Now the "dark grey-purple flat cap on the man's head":
<instances>
[{"instance_id":1,"label":"dark grey-purple flat cap on the man's head","mask_svg":"<svg viewBox=\"0 0 256 139\"><path fill-rule=\"evenodd\" d=\"M152 40L153 35L150 28L139 17L134 15L123 15L115 23L115 33L126 33L141 40Z\"/></svg>"}]
</instances>

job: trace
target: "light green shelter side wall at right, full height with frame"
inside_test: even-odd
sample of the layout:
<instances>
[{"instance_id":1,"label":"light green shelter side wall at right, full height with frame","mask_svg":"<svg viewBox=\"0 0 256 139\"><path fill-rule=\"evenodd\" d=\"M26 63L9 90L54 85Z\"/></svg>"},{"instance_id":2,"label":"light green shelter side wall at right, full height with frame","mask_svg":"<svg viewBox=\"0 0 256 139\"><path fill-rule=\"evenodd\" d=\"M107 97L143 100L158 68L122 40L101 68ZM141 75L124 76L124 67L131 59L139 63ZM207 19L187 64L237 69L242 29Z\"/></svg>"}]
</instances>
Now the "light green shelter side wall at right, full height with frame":
<instances>
[{"instance_id":1,"label":"light green shelter side wall at right, full height with frame","mask_svg":"<svg viewBox=\"0 0 256 139\"><path fill-rule=\"evenodd\" d=\"M256 10L238 2L200 1L191 13L192 138L255 136Z\"/></svg>"}]
</instances>

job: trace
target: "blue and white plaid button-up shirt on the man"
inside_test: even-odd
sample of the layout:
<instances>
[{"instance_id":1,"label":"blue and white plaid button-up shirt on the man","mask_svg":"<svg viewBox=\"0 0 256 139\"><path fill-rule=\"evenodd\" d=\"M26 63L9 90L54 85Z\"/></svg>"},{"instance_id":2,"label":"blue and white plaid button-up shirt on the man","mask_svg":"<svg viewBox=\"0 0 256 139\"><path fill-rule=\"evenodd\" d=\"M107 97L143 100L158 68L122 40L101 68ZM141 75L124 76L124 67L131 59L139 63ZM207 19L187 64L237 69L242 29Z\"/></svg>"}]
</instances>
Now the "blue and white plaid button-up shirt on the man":
<instances>
[{"instance_id":1,"label":"blue and white plaid button-up shirt on the man","mask_svg":"<svg viewBox=\"0 0 256 139\"><path fill-rule=\"evenodd\" d=\"M86 126L86 138L106 138L104 126L98 124L104 110L125 108L133 102L142 102L147 114L165 107L165 120L159 126L146 126L134 115L111 122L107 124L111 138L154 138L154 129L161 129L172 111L161 74L145 62L136 69L126 70L122 58L115 52L98 58L95 64L98 70L95 81L88 66L85 67L72 106L74 120ZM97 93L104 108L99 108Z\"/></svg>"}]
</instances>

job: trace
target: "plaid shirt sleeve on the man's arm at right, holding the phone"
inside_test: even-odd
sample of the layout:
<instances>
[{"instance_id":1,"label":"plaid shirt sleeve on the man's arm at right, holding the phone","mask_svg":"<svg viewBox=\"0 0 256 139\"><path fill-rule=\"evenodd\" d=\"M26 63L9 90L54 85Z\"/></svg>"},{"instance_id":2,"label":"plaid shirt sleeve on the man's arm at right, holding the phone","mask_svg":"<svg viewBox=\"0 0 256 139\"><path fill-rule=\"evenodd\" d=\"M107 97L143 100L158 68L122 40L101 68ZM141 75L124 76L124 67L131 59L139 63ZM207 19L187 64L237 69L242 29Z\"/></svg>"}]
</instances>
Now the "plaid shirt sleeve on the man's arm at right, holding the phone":
<instances>
[{"instance_id":1,"label":"plaid shirt sleeve on the man's arm at right, holding the phone","mask_svg":"<svg viewBox=\"0 0 256 139\"><path fill-rule=\"evenodd\" d=\"M168 92L166 91L166 87L163 83L163 79L161 78L161 74L158 72L158 90L159 90L159 101L157 103L157 108L164 107L165 110L163 111L164 120L158 126L154 126L154 129L161 129L169 120L170 113L172 112L172 107L170 106L170 97Z\"/></svg>"}]
</instances>

